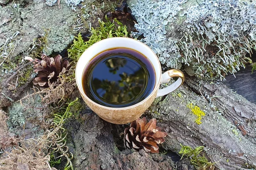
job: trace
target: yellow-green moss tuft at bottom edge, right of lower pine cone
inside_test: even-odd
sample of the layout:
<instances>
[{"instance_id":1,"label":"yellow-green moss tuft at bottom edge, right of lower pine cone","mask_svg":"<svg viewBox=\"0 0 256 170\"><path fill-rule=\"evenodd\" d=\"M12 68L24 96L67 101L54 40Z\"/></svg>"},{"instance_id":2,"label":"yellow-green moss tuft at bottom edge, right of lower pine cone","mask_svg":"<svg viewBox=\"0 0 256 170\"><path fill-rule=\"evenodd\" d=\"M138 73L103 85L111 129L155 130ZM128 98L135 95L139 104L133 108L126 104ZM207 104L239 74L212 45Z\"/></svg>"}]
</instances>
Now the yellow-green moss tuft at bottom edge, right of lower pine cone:
<instances>
[{"instance_id":1,"label":"yellow-green moss tuft at bottom edge, right of lower pine cone","mask_svg":"<svg viewBox=\"0 0 256 170\"><path fill-rule=\"evenodd\" d=\"M204 156L198 156L201 151L204 150L203 146L196 147L195 149L192 149L189 146L183 146L180 144L181 149L179 154L181 154L181 159L183 156L186 156L187 158L191 158L190 162L195 167L196 170L214 170L215 163L212 163L211 161L208 161L206 157Z\"/></svg>"}]
</instances>

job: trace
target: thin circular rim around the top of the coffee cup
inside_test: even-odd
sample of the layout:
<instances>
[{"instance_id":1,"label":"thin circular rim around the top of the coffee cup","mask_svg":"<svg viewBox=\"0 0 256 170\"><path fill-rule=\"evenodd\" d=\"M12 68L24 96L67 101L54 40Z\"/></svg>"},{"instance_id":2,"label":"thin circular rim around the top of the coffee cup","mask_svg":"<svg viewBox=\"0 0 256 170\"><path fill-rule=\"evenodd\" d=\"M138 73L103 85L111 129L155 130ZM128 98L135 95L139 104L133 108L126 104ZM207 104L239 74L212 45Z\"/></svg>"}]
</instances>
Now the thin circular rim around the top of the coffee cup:
<instances>
[{"instance_id":1,"label":"thin circular rim around the top of the coffee cup","mask_svg":"<svg viewBox=\"0 0 256 170\"><path fill-rule=\"evenodd\" d=\"M110 38L106 38L106 39L100 40L100 41L98 41L98 42L102 42L102 41L109 40L109 39L128 39L128 40L134 40L134 41L140 42L139 40L135 40L135 39L133 39L133 38L128 38L128 37L110 37ZM98 42L95 42L95 43L94 43L93 45L91 45L90 47L95 46ZM159 61L157 55L154 53L154 51L153 51L150 47L148 47L148 45L144 44L143 42L140 42L140 43L141 43L142 45L144 45L146 48L148 48L148 49L150 49L150 50L152 51L152 53L154 54L154 56L157 58L158 64L159 64L159 66L160 66L160 71L162 71L162 67L161 67L160 61ZM90 48L90 47L89 47L89 48ZM88 48L87 48L87 49L88 49ZM87 49L86 49L85 51L87 51ZM85 52L85 51L84 51L84 52ZM83 52L83 54L84 54L84 52ZM81 54L81 56L82 56L83 54ZM91 99L84 93L84 90L81 89L81 88L79 87L79 85L78 85L78 80L77 80L76 72L77 72L77 65L78 65L78 63L79 63L79 60L81 59L81 56L79 57L79 59L78 59L78 61L77 61L77 63L76 63L76 70L75 70L76 85L77 85L77 87L78 87L78 90L79 90L81 96L84 96L84 97L85 97L90 103L92 103L93 105L97 105L97 106L100 107L100 108L104 108L104 109L108 109L108 110L127 110L127 109L131 109L131 108L136 108L136 107L138 107L139 105L142 105L146 100L150 99L150 98L152 97L152 95L155 94L155 92L159 90L159 86L160 86L160 83L161 83L161 77L162 77L161 72L160 72L160 76L159 76L158 83L155 84L153 91L152 91L145 99L143 99L142 101L136 103L135 105L131 105L131 106L123 107L123 108L111 108L111 107L108 107L108 106L100 105L99 103L96 103L96 102L94 102L93 100L91 100ZM146 57L146 56L145 56L145 57ZM87 63L87 64L88 64L88 63ZM153 64L152 64L152 65L153 65ZM84 68L85 68L85 67L86 67L86 65L84 66ZM154 67L154 65L153 65L153 67ZM155 68L154 68L154 69L155 69ZM83 70L83 71L84 71L84 70ZM156 75L155 75L155 76L156 76Z\"/></svg>"}]
</instances>

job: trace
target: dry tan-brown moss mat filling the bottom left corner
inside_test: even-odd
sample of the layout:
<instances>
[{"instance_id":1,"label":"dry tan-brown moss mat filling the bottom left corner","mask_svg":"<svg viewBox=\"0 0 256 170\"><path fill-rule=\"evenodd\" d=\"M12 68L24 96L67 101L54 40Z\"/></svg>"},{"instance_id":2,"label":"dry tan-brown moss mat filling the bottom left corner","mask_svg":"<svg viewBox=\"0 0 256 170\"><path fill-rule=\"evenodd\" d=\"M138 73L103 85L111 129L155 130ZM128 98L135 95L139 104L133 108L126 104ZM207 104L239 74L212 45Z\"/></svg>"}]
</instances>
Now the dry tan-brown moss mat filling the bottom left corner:
<instances>
[{"instance_id":1,"label":"dry tan-brown moss mat filling the bottom left corner","mask_svg":"<svg viewBox=\"0 0 256 170\"><path fill-rule=\"evenodd\" d=\"M73 169L71 159L73 155L68 152L68 147L65 146L64 139L66 136L61 136L64 128L64 119L58 124L52 123L52 128L47 130L38 139L27 139L21 141L22 147L14 147L14 149L7 153L7 156L0 159L1 170L56 170L50 167L50 153L59 152L60 157L67 159L67 169ZM57 159L57 158L56 158Z\"/></svg>"}]
</instances>

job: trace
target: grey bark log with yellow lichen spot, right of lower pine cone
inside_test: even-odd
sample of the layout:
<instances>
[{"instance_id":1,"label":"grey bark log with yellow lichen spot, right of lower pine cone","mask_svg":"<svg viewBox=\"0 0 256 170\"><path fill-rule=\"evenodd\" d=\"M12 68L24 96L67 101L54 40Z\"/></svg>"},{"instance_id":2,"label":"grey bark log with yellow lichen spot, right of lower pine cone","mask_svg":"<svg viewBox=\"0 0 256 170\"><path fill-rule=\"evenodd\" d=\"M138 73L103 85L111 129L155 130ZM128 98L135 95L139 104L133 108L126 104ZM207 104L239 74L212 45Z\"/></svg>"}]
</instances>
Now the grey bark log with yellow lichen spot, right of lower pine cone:
<instances>
[{"instance_id":1,"label":"grey bark log with yellow lichen spot, right of lower pine cone","mask_svg":"<svg viewBox=\"0 0 256 170\"><path fill-rule=\"evenodd\" d=\"M196 116L187 107L190 103L206 113L201 125L195 123ZM246 163L256 166L256 105L225 85L187 76L180 90L163 97L151 109L148 115L157 118L169 133L166 149L177 153L180 144L204 146L205 156L221 170L246 167Z\"/></svg>"}]
</instances>

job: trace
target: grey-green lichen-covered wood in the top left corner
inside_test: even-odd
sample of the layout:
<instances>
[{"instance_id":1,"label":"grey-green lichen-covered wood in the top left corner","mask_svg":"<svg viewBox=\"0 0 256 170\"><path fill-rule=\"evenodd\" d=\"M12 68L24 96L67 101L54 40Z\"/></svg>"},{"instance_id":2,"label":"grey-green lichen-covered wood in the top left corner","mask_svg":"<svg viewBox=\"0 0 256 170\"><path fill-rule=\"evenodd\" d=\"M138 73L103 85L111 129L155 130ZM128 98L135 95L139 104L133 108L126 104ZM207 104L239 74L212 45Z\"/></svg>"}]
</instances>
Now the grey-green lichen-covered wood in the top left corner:
<instances>
[{"instance_id":1,"label":"grey-green lichen-covered wood in the top left corner","mask_svg":"<svg viewBox=\"0 0 256 170\"><path fill-rule=\"evenodd\" d=\"M35 77L32 64L22 68L26 63L23 62L25 56L38 57L42 49L48 54L60 52L73 41L77 12L63 1L60 6L60 9L58 6L47 6L44 0L21 0L0 6L2 107L10 105L12 99L18 99L20 92Z\"/></svg>"}]
</instances>

